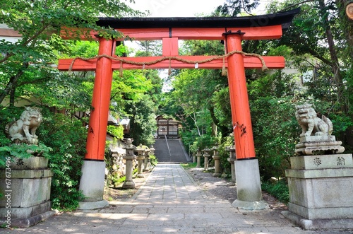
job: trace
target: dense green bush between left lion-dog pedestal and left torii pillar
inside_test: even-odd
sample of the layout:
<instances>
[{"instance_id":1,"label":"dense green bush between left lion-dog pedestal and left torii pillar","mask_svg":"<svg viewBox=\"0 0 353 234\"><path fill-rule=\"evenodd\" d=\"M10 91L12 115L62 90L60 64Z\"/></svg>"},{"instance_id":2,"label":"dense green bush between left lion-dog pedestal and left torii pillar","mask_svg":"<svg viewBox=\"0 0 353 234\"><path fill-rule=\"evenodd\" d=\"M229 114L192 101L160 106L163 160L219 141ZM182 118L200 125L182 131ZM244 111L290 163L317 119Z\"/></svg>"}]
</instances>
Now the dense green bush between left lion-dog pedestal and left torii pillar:
<instances>
[{"instance_id":1,"label":"dense green bush between left lion-dog pedestal and left torii pillar","mask_svg":"<svg viewBox=\"0 0 353 234\"><path fill-rule=\"evenodd\" d=\"M53 151L49 155L52 177L53 209L72 211L83 199L79 191L81 167L85 156L87 129L82 122L65 115L42 112L40 140Z\"/></svg>"}]
</instances>

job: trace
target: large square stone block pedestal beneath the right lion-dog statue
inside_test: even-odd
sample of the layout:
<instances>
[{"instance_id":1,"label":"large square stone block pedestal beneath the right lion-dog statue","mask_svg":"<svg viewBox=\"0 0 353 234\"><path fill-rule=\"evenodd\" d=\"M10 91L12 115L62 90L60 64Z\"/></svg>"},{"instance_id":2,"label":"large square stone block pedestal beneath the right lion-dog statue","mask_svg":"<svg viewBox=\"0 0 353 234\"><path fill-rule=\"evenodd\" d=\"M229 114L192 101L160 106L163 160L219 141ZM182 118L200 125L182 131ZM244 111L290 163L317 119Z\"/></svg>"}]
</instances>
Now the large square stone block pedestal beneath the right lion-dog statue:
<instances>
[{"instance_id":1,"label":"large square stone block pedestal beneath the right lion-dog statue","mask_svg":"<svg viewBox=\"0 0 353 234\"><path fill-rule=\"evenodd\" d=\"M287 218L301 228L353 228L352 154L297 156L286 170Z\"/></svg>"}]
</instances>

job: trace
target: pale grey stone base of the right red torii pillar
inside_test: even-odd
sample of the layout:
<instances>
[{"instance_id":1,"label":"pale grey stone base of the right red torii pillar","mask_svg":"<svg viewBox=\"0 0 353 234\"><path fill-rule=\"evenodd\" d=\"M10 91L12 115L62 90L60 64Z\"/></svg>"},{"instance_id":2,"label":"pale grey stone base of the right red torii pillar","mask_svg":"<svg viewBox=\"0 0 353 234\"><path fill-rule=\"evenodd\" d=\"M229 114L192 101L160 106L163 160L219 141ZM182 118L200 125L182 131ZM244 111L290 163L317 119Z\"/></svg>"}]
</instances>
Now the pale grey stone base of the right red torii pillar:
<instances>
[{"instance_id":1,"label":"pale grey stone base of the right red torii pillar","mask_svg":"<svg viewBox=\"0 0 353 234\"><path fill-rule=\"evenodd\" d=\"M246 210L266 209L268 206L262 197L258 160L236 160L234 164L237 199L232 206Z\"/></svg>"}]
</instances>

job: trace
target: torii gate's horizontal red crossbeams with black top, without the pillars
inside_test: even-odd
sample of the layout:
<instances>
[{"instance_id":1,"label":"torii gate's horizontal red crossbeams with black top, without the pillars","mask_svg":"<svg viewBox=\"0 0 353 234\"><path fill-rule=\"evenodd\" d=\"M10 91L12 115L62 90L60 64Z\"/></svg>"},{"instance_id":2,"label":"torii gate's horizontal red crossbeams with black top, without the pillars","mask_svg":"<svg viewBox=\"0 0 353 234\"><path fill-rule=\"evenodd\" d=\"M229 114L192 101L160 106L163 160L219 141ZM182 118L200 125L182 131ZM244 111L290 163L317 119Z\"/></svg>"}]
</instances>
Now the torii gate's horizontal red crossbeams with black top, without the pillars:
<instances>
[{"instance_id":1,"label":"torii gate's horizontal red crossbeams with black top, without the pillars","mask_svg":"<svg viewBox=\"0 0 353 234\"><path fill-rule=\"evenodd\" d=\"M278 39L282 36L282 30L289 27L293 17L299 13L299 8L293 11L275 13L263 16L246 17L191 17L191 18L100 18L97 25L111 27L133 40L162 40L162 57L179 57L178 40L224 40L223 33L237 32L241 30L241 40L267 40ZM92 31L92 39L98 40L96 32ZM71 37L63 36L66 39ZM124 37L118 40L124 40ZM162 57L124 58L131 64L124 63L124 69L174 69L194 68L193 63L184 63L174 60L142 66L139 62L152 62ZM212 56L179 57L191 61L202 61ZM263 64L256 57L244 57L246 69L262 68ZM263 57L265 64L270 69L280 69L285 66L282 57ZM61 59L59 70L67 71L72 59ZM94 71L95 60L91 62L76 61L73 71ZM120 62L115 61L113 69L120 69ZM201 69L221 69L224 66L222 59L214 59L208 63L198 64ZM225 63L227 67L227 62Z\"/></svg>"}]
</instances>

